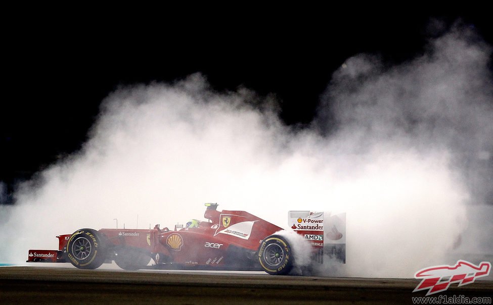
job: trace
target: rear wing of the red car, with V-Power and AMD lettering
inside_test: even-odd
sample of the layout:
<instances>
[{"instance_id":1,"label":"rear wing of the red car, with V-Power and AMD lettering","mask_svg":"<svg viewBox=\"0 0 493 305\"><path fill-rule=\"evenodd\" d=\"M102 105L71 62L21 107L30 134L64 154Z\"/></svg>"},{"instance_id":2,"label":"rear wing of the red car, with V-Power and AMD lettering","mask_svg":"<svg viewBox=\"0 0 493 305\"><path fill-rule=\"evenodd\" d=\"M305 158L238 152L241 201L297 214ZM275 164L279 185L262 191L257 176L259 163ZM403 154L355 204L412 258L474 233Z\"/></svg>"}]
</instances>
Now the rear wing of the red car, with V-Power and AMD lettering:
<instances>
[{"instance_id":1,"label":"rear wing of the red car, with V-Power and AMD lettering","mask_svg":"<svg viewBox=\"0 0 493 305\"><path fill-rule=\"evenodd\" d=\"M289 211L288 225L311 243L318 262L346 263L346 213Z\"/></svg>"}]
</instances>

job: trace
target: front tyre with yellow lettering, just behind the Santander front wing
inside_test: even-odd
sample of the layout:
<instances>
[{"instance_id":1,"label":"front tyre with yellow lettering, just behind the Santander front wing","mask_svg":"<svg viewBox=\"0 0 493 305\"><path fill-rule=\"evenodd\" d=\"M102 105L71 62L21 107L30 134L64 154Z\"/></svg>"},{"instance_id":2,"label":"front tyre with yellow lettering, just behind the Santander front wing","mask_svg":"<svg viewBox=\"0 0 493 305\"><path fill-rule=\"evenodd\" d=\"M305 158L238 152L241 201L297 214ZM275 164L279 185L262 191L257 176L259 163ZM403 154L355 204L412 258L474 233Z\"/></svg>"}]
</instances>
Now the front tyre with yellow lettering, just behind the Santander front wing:
<instances>
[{"instance_id":1,"label":"front tyre with yellow lettering, just behind the Santander front wing","mask_svg":"<svg viewBox=\"0 0 493 305\"><path fill-rule=\"evenodd\" d=\"M67 259L79 269L96 269L106 260L101 234L93 229L75 231L67 242Z\"/></svg>"}]
</instances>

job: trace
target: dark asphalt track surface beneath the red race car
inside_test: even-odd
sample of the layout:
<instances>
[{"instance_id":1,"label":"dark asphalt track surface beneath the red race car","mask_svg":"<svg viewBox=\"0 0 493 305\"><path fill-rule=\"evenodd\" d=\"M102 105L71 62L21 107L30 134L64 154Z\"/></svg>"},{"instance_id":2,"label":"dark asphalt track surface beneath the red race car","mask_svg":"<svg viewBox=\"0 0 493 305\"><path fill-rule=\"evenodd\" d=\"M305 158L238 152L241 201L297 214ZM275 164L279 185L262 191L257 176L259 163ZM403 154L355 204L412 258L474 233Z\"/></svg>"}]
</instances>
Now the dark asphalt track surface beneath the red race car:
<instances>
[{"instance_id":1,"label":"dark asphalt track surface beneath the red race car","mask_svg":"<svg viewBox=\"0 0 493 305\"><path fill-rule=\"evenodd\" d=\"M261 272L78 270L0 267L1 304L384 304L413 303L416 279L272 276ZM477 280L447 296L491 297ZM438 296L438 295L434 295Z\"/></svg>"}]
</instances>

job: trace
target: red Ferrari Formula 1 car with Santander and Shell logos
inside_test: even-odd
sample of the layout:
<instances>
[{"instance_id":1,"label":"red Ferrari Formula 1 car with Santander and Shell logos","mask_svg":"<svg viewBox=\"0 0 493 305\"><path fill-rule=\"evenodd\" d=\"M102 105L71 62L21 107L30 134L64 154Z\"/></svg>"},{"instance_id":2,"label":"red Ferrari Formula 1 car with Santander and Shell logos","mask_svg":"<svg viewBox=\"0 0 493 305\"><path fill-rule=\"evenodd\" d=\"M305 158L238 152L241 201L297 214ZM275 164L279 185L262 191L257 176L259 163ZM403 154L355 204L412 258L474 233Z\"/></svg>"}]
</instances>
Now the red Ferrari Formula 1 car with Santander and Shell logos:
<instances>
[{"instance_id":1,"label":"red Ferrari Formula 1 car with Santander and Shell logos","mask_svg":"<svg viewBox=\"0 0 493 305\"><path fill-rule=\"evenodd\" d=\"M263 270L275 275L291 271L292 246L281 227L245 211L220 212L217 204L205 206L204 218L209 221L194 220L174 230L156 225L153 229L80 229L59 235L58 250L31 249L27 262L70 262L79 269L96 269L114 261L124 270ZM289 213L293 230L311 242L311 255L322 261L324 213ZM342 221L338 229L331 226L326 238L335 242L328 251L344 263L345 214ZM151 260L154 264L149 266Z\"/></svg>"}]
</instances>

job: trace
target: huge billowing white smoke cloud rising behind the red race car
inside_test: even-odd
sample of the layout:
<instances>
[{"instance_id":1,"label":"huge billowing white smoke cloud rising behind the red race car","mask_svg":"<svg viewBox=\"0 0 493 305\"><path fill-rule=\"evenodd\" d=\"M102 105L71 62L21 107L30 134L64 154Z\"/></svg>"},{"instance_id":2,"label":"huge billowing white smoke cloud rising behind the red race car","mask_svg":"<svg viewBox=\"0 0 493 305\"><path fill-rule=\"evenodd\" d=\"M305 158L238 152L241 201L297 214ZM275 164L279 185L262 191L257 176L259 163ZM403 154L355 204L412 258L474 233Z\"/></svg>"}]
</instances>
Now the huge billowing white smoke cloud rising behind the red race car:
<instances>
[{"instance_id":1,"label":"huge billowing white smoke cloud rising behind the red race car","mask_svg":"<svg viewBox=\"0 0 493 305\"><path fill-rule=\"evenodd\" d=\"M121 88L103 101L81 151L24 184L16 206L0 207L12 213L0 226L0 261L22 263L29 248L56 248L56 235L114 228L114 219L172 227L217 202L285 228L288 210L346 211L344 275L412 277L445 264L471 222L467 205L486 198L464 177L491 173L477 165L491 164L489 155L471 157L493 147L488 54L454 30L400 66L348 59L313 128L300 131L268 98L214 92L200 74ZM330 132L329 117L338 126Z\"/></svg>"}]
</instances>

